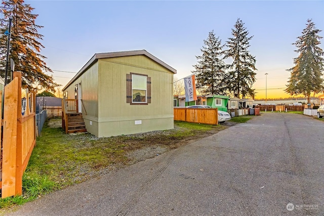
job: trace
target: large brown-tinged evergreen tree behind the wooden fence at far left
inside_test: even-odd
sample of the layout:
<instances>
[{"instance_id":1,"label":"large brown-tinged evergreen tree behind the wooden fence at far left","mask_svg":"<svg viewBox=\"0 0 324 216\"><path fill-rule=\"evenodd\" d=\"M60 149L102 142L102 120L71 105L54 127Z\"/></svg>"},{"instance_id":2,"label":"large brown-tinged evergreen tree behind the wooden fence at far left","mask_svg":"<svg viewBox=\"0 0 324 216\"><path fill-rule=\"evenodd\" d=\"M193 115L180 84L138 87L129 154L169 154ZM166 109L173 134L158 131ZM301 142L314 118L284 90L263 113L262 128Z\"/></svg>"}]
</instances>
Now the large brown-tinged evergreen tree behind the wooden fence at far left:
<instances>
[{"instance_id":1,"label":"large brown-tinged evergreen tree behind the wooden fence at far left","mask_svg":"<svg viewBox=\"0 0 324 216\"><path fill-rule=\"evenodd\" d=\"M15 62L15 71L22 71L23 88L30 90L34 87L41 87L55 92L58 86L52 76L43 71L52 72L44 62L45 56L40 52L44 46L38 42L43 35L37 33L37 29L42 28L35 24L38 15L32 14L33 8L24 4L23 0L3 0L1 12L4 18L0 19L0 69L1 76L4 77L7 40L5 31L8 30L9 17L13 19L10 41L10 58Z\"/></svg>"}]
</instances>

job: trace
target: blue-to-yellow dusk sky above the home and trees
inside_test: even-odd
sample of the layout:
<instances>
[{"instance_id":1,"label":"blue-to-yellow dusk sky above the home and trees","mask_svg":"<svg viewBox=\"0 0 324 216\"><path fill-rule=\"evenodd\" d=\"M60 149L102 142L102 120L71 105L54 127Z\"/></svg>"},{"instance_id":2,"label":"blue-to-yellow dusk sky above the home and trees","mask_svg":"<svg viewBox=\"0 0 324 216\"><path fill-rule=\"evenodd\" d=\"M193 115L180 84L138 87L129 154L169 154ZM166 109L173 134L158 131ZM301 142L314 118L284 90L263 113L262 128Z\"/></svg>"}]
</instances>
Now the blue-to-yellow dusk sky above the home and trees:
<instances>
[{"instance_id":1,"label":"blue-to-yellow dusk sky above the home and trees","mask_svg":"<svg viewBox=\"0 0 324 216\"><path fill-rule=\"evenodd\" d=\"M292 45L312 19L324 30L324 1L25 1L44 26L42 54L63 85L95 53L146 50L177 70L191 74L204 39L214 30L225 44L237 18L249 31L256 57L256 98L284 93L298 54ZM3 15L1 15L3 16ZM321 31L320 36L324 36ZM323 39L320 48L324 49ZM225 49L227 49L225 47ZM226 63L230 63L227 60ZM67 72L60 72L67 71ZM68 73L75 72L75 73ZM62 88L63 88L62 87Z\"/></svg>"}]
</instances>

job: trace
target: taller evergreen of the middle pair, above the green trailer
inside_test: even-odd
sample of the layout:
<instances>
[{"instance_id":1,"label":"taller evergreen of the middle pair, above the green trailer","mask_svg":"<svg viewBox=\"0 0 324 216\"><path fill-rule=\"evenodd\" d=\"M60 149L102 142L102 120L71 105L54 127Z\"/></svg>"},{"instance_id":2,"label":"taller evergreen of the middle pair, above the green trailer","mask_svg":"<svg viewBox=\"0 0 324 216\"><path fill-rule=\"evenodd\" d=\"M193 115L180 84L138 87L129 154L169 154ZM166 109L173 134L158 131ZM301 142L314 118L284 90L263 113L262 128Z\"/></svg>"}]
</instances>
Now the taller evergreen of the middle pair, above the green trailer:
<instances>
[{"instance_id":1,"label":"taller evergreen of the middle pair, above the green trailer","mask_svg":"<svg viewBox=\"0 0 324 216\"><path fill-rule=\"evenodd\" d=\"M232 58L233 63L227 65L229 71L225 75L224 82L226 90L232 93L235 97L242 98L245 96L255 97L255 90L252 85L255 82L257 70L255 67L255 57L248 50L250 47L248 37L249 32L244 27L244 23L237 19L234 29L232 29L232 38L228 38L226 46L229 48L225 51L225 58Z\"/></svg>"}]
</instances>

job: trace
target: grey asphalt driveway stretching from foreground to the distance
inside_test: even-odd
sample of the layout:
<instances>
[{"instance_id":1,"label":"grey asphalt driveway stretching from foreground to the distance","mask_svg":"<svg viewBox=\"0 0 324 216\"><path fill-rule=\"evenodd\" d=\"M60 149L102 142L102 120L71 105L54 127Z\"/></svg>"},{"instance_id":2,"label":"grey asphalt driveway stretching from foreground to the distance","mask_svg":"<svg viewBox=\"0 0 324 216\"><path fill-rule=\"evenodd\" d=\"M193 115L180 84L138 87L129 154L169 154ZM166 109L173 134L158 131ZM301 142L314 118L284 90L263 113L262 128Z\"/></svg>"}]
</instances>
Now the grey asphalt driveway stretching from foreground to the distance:
<instances>
[{"instance_id":1,"label":"grey asphalt driveway stretching from foreground to the distance","mask_svg":"<svg viewBox=\"0 0 324 216\"><path fill-rule=\"evenodd\" d=\"M264 113L12 214L322 215L323 168L323 121Z\"/></svg>"}]
</instances>

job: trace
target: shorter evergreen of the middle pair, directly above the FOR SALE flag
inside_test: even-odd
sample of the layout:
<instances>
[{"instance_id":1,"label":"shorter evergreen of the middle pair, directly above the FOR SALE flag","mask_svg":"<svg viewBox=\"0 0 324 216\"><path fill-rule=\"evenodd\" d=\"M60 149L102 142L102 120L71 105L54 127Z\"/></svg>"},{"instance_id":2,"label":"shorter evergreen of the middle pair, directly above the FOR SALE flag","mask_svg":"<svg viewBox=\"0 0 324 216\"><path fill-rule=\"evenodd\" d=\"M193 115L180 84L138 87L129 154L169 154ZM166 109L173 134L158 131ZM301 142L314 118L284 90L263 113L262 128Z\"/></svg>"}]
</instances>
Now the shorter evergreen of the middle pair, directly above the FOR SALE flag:
<instances>
[{"instance_id":1,"label":"shorter evergreen of the middle pair, directly above the FOR SALE flag","mask_svg":"<svg viewBox=\"0 0 324 216\"><path fill-rule=\"evenodd\" d=\"M214 30L209 32L204 40L205 47L200 49L202 55L196 56L197 64L192 73L196 73L196 88L203 94L224 94L225 63L221 58L223 54L221 40L216 37Z\"/></svg>"}]
</instances>

